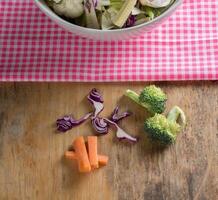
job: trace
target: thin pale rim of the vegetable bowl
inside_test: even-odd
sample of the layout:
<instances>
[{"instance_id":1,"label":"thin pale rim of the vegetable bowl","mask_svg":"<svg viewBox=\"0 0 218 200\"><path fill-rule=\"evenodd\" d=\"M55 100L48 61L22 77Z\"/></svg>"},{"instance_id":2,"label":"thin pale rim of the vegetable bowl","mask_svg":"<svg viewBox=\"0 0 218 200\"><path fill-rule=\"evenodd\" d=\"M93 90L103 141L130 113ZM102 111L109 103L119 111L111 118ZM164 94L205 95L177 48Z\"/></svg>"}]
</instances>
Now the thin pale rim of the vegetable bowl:
<instances>
[{"instance_id":1,"label":"thin pale rim of the vegetable bowl","mask_svg":"<svg viewBox=\"0 0 218 200\"><path fill-rule=\"evenodd\" d=\"M59 15L57 15L55 12L53 12L47 6L44 6L43 3L41 2L41 1L43 1L45 3L44 0L34 0L34 1L37 4L37 6L42 11L44 11L44 13L47 16L49 16L50 18L52 18L56 22L59 21L59 22L61 22L64 25L71 26L72 28L80 29L80 31L82 31L82 32L83 31L87 31L87 32L92 32L92 33L119 33L119 32L121 33L121 32L125 32L125 31L131 31L131 30L140 29L142 27L152 25L155 22L159 21L160 19L169 16L171 14L171 12L173 12L182 3L182 0L175 0L175 2L163 14L159 15L158 17L154 18L151 21L148 21L148 22L136 25L136 26L128 27L128 28L112 29L112 30L102 30L102 29L87 28L87 27L83 27L83 26L79 26L79 25L70 23L67 20L64 20L63 18L61 18Z\"/></svg>"}]
</instances>

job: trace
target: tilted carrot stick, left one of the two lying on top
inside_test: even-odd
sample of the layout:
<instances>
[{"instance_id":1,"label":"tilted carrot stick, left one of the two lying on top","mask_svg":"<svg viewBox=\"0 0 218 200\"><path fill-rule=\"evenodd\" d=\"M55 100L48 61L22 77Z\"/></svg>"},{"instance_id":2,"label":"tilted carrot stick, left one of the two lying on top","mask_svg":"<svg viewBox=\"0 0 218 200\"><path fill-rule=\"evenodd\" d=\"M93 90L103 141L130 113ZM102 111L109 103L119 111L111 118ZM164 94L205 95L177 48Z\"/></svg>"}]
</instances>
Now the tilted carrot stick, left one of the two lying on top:
<instances>
[{"instance_id":1,"label":"tilted carrot stick, left one of the two lying on top","mask_svg":"<svg viewBox=\"0 0 218 200\"><path fill-rule=\"evenodd\" d=\"M84 138L80 136L77 139L75 139L73 146L75 149L76 157L78 159L79 171L90 172L91 166L89 163Z\"/></svg>"}]
</instances>

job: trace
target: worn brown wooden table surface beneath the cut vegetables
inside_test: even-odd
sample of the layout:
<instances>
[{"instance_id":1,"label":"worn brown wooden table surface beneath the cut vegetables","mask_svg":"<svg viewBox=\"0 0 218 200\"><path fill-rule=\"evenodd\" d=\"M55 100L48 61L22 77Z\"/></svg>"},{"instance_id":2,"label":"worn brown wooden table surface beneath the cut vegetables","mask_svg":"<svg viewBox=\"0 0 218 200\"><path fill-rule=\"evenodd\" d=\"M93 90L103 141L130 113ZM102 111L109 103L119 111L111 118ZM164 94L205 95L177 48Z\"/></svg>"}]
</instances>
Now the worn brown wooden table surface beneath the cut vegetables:
<instances>
[{"instance_id":1,"label":"worn brown wooden table surface beneath the cut vegetables","mask_svg":"<svg viewBox=\"0 0 218 200\"><path fill-rule=\"evenodd\" d=\"M215 200L218 198L218 82L157 83L168 94L167 110L181 106L188 126L175 145L159 149L143 132L148 115L123 97L144 83L4 83L0 85L0 199L37 200ZM64 114L92 110L91 88L103 93L108 116L118 104L133 116L121 126L140 136L136 145L116 141L114 131L99 138L108 166L78 174L63 158L78 135L94 133L90 122L57 134Z\"/></svg>"}]
</instances>

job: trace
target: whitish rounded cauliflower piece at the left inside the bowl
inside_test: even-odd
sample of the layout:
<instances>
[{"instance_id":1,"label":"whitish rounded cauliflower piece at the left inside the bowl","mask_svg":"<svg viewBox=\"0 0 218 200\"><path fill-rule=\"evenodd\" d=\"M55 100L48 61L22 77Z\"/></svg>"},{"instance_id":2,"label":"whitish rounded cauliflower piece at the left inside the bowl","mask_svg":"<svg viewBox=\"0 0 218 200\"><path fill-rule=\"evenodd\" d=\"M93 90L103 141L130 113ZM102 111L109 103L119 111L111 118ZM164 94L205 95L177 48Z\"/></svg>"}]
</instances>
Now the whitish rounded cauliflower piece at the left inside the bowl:
<instances>
[{"instance_id":1,"label":"whitish rounded cauliflower piece at the left inside the bowl","mask_svg":"<svg viewBox=\"0 0 218 200\"><path fill-rule=\"evenodd\" d=\"M54 1L54 0L53 0ZM57 1L59 3L53 3L53 9L55 13L68 18L76 18L83 14L83 0L62 0Z\"/></svg>"}]
</instances>

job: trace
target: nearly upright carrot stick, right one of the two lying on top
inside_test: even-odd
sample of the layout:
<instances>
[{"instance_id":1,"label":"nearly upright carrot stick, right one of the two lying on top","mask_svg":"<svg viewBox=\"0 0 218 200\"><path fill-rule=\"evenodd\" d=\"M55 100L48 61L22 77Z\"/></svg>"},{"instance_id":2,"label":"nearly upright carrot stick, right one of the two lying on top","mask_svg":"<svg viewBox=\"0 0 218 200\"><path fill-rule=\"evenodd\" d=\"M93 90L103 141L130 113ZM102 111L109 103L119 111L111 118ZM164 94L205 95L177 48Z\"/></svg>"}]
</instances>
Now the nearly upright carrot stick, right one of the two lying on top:
<instances>
[{"instance_id":1,"label":"nearly upright carrot stick, right one of the two lying on top","mask_svg":"<svg viewBox=\"0 0 218 200\"><path fill-rule=\"evenodd\" d=\"M98 168L97 136L88 136L88 154L92 169Z\"/></svg>"}]
</instances>

